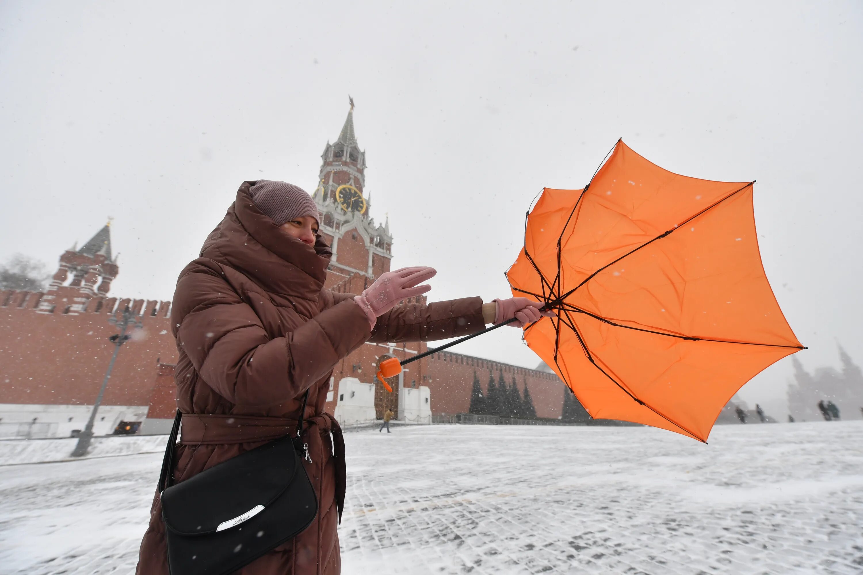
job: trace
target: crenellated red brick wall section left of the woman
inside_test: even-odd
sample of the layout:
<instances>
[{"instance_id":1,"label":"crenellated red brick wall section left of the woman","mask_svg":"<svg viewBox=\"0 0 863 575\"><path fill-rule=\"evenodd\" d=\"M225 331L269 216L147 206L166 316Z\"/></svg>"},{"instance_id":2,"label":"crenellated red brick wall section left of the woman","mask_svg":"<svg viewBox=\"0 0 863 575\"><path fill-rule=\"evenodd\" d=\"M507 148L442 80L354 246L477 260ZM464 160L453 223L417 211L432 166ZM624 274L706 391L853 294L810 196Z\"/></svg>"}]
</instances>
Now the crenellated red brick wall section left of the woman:
<instances>
[{"instance_id":1,"label":"crenellated red brick wall section left of the woman","mask_svg":"<svg viewBox=\"0 0 863 575\"><path fill-rule=\"evenodd\" d=\"M92 404L114 351L108 337L117 328L108 310L115 304L142 310L144 327L120 349L105 404L148 405L156 360L176 362L167 302L110 298L97 313L94 299L84 312L64 315L62 299L54 314L44 314L28 304L17 307L22 295L0 293L0 403Z\"/></svg>"}]
</instances>

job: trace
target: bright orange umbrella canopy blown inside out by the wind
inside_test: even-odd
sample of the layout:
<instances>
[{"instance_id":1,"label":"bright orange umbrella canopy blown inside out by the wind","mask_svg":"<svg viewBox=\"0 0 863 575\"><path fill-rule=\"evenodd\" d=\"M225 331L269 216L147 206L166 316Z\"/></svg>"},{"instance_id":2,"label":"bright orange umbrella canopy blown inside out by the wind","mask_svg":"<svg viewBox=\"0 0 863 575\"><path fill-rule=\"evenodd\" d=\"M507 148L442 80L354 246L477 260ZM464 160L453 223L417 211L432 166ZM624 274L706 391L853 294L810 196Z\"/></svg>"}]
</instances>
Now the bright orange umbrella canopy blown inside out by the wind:
<instances>
[{"instance_id":1,"label":"bright orange umbrella canopy blown inside out by the wind","mask_svg":"<svg viewBox=\"0 0 863 575\"><path fill-rule=\"evenodd\" d=\"M753 184L618 141L583 190L542 191L507 279L557 313L524 338L590 416L707 441L735 391L803 349L761 264Z\"/></svg>"}]
</instances>

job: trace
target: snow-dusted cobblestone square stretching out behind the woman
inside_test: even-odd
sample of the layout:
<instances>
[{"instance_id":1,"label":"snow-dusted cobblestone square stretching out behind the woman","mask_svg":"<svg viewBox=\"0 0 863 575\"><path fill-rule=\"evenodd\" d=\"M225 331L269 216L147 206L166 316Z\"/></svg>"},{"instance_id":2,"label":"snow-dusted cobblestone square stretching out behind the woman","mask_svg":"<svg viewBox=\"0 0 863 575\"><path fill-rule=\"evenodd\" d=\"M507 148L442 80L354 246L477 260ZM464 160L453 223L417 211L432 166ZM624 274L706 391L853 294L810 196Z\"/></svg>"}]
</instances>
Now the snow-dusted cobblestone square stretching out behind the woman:
<instances>
[{"instance_id":1,"label":"snow-dusted cobblestone square stretching out behind the woman","mask_svg":"<svg viewBox=\"0 0 863 575\"><path fill-rule=\"evenodd\" d=\"M345 434L355 573L863 573L863 422ZM0 573L134 572L160 453L0 466Z\"/></svg>"}]
</instances>

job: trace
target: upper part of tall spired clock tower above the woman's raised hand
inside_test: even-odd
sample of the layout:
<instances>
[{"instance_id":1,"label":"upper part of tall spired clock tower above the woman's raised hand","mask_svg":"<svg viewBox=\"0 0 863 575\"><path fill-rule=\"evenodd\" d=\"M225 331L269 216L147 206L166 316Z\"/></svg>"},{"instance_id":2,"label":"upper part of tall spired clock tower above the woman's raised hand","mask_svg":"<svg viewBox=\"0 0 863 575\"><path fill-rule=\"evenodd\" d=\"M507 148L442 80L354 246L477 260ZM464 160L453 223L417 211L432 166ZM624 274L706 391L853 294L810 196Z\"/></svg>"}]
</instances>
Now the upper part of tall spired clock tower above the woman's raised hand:
<instances>
[{"instance_id":1,"label":"upper part of tall spired clock tower above the woman's raised hand","mask_svg":"<svg viewBox=\"0 0 863 575\"><path fill-rule=\"evenodd\" d=\"M327 287L355 273L374 279L389 271L393 236L389 222L375 224L365 191L366 153L356 141L354 100L334 143L321 154L318 188L312 194L321 213L321 232L332 247Z\"/></svg>"}]
</instances>

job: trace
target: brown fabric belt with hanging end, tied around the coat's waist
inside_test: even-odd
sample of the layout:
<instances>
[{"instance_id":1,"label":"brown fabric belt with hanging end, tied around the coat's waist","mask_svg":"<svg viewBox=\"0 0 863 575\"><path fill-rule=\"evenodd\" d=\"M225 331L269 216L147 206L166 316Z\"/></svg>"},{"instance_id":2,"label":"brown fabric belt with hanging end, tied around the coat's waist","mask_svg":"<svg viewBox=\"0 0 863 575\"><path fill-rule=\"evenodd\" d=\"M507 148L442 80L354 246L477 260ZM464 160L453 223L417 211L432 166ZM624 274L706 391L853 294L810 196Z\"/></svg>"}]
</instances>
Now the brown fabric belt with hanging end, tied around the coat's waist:
<instances>
[{"instance_id":1,"label":"brown fabric belt with hanging end, tied around the coat's waist","mask_svg":"<svg viewBox=\"0 0 863 575\"><path fill-rule=\"evenodd\" d=\"M344 464L344 437L336 418L329 413L318 414L304 420L303 434L317 427L320 433L332 434L333 459L336 464L336 503L338 521L342 522L344 490L348 472ZM181 445L224 445L272 441L293 434L297 420L286 417L211 416L184 413L180 428Z\"/></svg>"}]
</instances>

